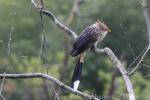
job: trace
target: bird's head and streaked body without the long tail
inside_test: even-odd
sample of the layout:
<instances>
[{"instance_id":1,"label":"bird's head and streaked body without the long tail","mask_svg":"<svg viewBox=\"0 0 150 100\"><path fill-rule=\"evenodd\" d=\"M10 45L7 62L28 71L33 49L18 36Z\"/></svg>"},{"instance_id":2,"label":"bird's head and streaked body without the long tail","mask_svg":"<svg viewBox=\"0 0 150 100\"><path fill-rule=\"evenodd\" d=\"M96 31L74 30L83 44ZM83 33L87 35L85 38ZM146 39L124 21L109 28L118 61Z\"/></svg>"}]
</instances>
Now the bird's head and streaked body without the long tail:
<instances>
[{"instance_id":1,"label":"bird's head and streaked body without the long tail","mask_svg":"<svg viewBox=\"0 0 150 100\"><path fill-rule=\"evenodd\" d=\"M108 31L110 30L107 28L107 26L100 21L86 27L73 44L71 55L77 56L91 46L102 41Z\"/></svg>"}]
</instances>

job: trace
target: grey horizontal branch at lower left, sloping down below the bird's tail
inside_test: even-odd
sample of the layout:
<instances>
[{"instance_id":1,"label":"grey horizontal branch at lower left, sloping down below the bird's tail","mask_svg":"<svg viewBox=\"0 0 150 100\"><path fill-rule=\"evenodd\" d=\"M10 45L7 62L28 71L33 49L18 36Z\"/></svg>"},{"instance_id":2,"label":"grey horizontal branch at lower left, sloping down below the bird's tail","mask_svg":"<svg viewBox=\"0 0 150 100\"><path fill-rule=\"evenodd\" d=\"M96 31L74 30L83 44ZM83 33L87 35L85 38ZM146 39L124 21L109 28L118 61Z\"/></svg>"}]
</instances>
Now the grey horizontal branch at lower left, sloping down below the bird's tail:
<instances>
[{"instance_id":1,"label":"grey horizontal branch at lower left, sloping down below the bird's tail","mask_svg":"<svg viewBox=\"0 0 150 100\"><path fill-rule=\"evenodd\" d=\"M54 82L55 84L57 84L58 86L60 86L61 88L75 94L78 95L82 98L85 98L86 100L99 100L98 98L95 98L94 96L90 96L88 94L85 94L83 92L80 91L74 91L71 87L65 85L64 83L62 83L61 81L59 81L58 79L48 75L48 74L43 74L43 73L27 73L27 74L0 74L0 78L2 79L5 76L5 79L17 79L17 78L42 78L42 79L46 79L49 81Z\"/></svg>"}]
</instances>

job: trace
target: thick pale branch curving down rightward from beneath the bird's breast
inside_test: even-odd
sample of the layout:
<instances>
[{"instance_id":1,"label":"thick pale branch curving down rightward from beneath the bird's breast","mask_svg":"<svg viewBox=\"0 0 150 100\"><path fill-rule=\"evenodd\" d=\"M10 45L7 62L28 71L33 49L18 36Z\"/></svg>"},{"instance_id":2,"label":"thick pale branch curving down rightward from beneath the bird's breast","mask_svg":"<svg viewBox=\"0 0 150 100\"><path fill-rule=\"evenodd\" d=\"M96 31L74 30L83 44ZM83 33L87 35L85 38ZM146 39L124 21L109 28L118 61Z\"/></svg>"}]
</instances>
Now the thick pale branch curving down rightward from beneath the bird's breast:
<instances>
[{"instance_id":1,"label":"thick pale branch curving down rightward from beneath the bird's breast","mask_svg":"<svg viewBox=\"0 0 150 100\"><path fill-rule=\"evenodd\" d=\"M110 48L106 47L104 49L96 48L95 52L98 53L98 54L99 53L106 53L108 55L110 60L119 69L119 71L122 74L122 77L123 77L123 79L125 81L125 84L126 84L126 88L128 90L128 93L129 93L129 100L135 100L135 94L134 94L134 91L133 91L133 86L132 86L132 83L131 83L130 78L128 76L128 73L127 73L126 69L124 68L124 66L122 65L122 63L115 56L113 51Z\"/></svg>"}]
</instances>

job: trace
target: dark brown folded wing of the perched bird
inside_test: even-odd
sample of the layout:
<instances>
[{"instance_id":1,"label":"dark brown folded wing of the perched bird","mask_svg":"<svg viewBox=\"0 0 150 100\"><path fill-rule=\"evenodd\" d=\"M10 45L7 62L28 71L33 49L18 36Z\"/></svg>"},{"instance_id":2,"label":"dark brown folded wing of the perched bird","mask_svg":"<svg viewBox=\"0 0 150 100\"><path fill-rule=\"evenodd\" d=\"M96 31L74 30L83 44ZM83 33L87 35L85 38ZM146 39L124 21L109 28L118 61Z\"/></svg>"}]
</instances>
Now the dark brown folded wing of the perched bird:
<instances>
[{"instance_id":1,"label":"dark brown folded wing of the perched bird","mask_svg":"<svg viewBox=\"0 0 150 100\"><path fill-rule=\"evenodd\" d=\"M73 44L71 55L77 56L84 52L90 48L98 40L98 38L99 30L96 27L88 26L81 32L80 36Z\"/></svg>"}]
</instances>

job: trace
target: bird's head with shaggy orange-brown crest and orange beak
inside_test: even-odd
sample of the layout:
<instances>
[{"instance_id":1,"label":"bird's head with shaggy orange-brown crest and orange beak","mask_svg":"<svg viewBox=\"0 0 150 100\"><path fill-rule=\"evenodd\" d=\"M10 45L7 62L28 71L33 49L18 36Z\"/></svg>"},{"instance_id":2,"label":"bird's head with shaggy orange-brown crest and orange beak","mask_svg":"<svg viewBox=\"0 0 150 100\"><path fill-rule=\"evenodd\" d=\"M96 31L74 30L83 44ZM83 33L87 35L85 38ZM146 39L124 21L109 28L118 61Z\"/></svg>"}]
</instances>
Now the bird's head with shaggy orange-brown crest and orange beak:
<instances>
[{"instance_id":1,"label":"bird's head with shaggy orange-brown crest and orange beak","mask_svg":"<svg viewBox=\"0 0 150 100\"><path fill-rule=\"evenodd\" d=\"M99 20L95 22L93 25L105 33L111 32L111 30L106 26L106 24L104 24Z\"/></svg>"}]
</instances>

